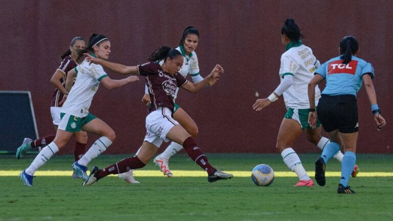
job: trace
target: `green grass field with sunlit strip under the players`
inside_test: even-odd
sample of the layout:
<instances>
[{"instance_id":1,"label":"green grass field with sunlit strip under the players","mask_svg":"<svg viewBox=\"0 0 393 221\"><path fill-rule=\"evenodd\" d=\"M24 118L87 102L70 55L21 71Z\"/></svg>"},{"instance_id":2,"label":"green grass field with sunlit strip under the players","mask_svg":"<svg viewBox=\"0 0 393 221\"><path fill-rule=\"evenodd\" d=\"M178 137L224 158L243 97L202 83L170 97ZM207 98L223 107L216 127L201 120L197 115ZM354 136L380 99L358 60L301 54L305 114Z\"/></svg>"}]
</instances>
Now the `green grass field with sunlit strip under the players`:
<instances>
[{"instance_id":1,"label":"green grass field with sunlit strip under the players","mask_svg":"<svg viewBox=\"0 0 393 221\"><path fill-rule=\"evenodd\" d=\"M71 179L72 156L54 156L36 172L34 186L18 178L35 156L0 156L0 220L393 220L393 155L358 154L359 176L353 195L337 194L339 163L326 168L326 186L294 188L297 177L279 154L208 154L210 163L234 178L213 184L185 154L171 159L173 178L150 162L135 171L140 184L109 176L82 187ZM108 166L126 156L102 155L90 167ZM317 154L300 154L314 176ZM252 168L269 164L269 187L251 181Z\"/></svg>"}]
</instances>

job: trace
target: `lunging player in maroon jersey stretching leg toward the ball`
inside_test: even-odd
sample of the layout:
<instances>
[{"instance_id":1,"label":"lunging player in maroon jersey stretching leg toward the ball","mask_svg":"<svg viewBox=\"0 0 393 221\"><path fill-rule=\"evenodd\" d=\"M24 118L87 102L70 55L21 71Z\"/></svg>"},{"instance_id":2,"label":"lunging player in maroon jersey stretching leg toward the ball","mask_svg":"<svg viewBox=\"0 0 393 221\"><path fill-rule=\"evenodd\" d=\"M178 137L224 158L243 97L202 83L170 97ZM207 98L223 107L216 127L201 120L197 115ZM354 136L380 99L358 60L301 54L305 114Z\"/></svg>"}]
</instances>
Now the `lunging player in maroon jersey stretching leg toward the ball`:
<instances>
[{"instance_id":1,"label":"lunging player in maroon jersey stretching leg toward the ball","mask_svg":"<svg viewBox=\"0 0 393 221\"><path fill-rule=\"evenodd\" d=\"M146 117L146 136L137 156L126 158L104 169L98 169L94 166L89 178L83 183L84 186L92 185L109 174L119 174L144 167L155 155L163 141L174 141L182 144L188 156L208 173L210 183L233 177L232 174L211 166L192 136L172 117L173 98L177 87L191 93L197 93L210 81L216 81L220 77L220 74L224 72L221 65L215 65L211 73L202 81L191 83L178 73L183 65L182 54L178 50L170 49L167 46L153 52L148 59L150 62L137 66L125 66L92 56L87 59L121 74L145 76L151 106L149 107L149 115ZM160 60L164 60L162 65L156 63Z\"/></svg>"}]
</instances>

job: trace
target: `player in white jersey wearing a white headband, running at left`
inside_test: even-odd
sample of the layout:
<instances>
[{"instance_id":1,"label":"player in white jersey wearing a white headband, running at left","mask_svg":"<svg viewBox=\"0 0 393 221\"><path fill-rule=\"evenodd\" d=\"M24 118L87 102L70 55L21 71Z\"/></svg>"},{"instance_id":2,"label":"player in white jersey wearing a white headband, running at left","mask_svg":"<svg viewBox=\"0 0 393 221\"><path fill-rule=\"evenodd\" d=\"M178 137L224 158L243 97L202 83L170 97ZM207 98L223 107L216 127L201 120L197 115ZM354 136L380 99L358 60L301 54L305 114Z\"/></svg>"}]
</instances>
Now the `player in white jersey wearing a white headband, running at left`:
<instances>
[{"instance_id":1,"label":"player in white jersey wearing a white headband, running at left","mask_svg":"<svg viewBox=\"0 0 393 221\"><path fill-rule=\"evenodd\" d=\"M83 59L83 53L89 51L92 52L91 56L108 59L111 53L111 42L103 35L92 34L89 39L88 48L78 51L77 62ZM61 109L61 120L55 139L46 147L42 148L30 166L19 175L26 186L33 185L35 171L63 148L75 132L81 130L101 136L83 157L72 165L74 172L78 176L87 179L86 166L88 163L105 151L116 138L115 131L110 126L89 113L89 107L98 90L99 84L102 83L107 89L114 89L129 82L139 80L137 76L112 80L104 72L101 65L91 64L86 60L83 60L74 70L70 71L67 76L65 89L70 90L77 72L74 86L72 86L69 95L64 95L65 98L63 98L65 99L65 103Z\"/></svg>"}]
</instances>

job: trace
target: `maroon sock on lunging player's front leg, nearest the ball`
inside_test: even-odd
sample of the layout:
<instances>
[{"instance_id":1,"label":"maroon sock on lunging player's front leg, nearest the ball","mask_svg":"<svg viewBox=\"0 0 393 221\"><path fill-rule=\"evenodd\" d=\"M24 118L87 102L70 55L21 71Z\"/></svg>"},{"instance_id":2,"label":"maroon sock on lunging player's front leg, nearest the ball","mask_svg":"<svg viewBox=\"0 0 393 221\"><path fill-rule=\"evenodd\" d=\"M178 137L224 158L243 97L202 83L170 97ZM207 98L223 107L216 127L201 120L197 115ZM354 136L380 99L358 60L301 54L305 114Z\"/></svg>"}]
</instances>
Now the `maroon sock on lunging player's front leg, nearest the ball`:
<instances>
[{"instance_id":1,"label":"maroon sock on lunging player's front leg, nearest the ball","mask_svg":"<svg viewBox=\"0 0 393 221\"><path fill-rule=\"evenodd\" d=\"M207 174L210 175L216 171L216 169L209 164L205 153L203 153L202 150L197 147L197 143L195 143L195 140L192 137L187 138L183 142L183 148L187 151L188 157L190 157L193 161L195 161L195 163L202 167L202 169L204 169Z\"/></svg>"}]
</instances>

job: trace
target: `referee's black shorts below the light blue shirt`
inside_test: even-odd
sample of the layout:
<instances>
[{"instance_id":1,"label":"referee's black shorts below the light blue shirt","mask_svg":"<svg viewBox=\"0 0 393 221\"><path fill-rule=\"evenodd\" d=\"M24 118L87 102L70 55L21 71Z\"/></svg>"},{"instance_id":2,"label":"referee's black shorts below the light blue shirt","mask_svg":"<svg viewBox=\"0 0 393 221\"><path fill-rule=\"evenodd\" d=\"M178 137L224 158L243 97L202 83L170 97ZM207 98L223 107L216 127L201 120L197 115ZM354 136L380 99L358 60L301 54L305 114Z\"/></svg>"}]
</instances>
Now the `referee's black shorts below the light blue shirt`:
<instances>
[{"instance_id":1,"label":"referee's black shorts below the light blue shirt","mask_svg":"<svg viewBox=\"0 0 393 221\"><path fill-rule=\"evenodd\" d=\"M326 132L359 131L358 105L354 95L322 95L317 107L318 119Z\"/></svg>"}]
</instances>

